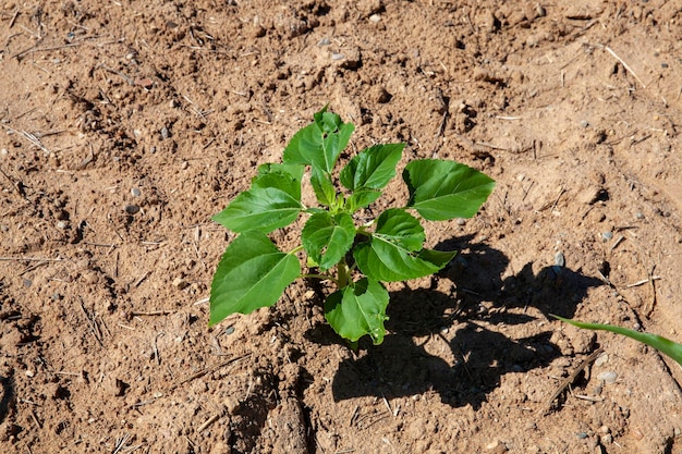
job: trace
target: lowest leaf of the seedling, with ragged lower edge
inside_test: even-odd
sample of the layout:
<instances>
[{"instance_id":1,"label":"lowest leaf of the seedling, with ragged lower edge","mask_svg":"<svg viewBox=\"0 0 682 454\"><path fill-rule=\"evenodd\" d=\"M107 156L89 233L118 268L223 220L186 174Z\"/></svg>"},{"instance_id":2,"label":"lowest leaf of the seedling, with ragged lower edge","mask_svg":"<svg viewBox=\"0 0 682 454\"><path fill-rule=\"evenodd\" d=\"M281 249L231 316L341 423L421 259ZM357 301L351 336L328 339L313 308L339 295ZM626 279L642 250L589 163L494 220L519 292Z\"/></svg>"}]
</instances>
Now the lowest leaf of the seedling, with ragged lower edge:
<instances>
[{"instance_id":1,"label":"lowest leaf of the seedling, with ragged lower edge","mask_svg":"<svg viewBox=\"0 0 682 454\"><path fill-rule=\"evenodd\" d=\"M363 278L327 297L325 317L343 339L357 342L369 334L375 345L383 342L383 321L389 294L381 283Z\"/></svg>"}]
</instances>

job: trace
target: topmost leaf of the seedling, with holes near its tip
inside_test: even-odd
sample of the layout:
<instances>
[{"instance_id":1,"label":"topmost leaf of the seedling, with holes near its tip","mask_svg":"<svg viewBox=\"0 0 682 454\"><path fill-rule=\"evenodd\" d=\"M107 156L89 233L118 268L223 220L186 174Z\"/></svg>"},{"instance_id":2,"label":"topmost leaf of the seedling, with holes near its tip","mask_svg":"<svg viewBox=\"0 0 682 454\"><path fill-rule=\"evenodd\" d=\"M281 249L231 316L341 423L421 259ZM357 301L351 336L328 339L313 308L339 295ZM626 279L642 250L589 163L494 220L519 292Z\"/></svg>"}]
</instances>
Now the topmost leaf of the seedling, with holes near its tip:
<instances>
[{"instance_id":1,"label":"topmost leaf of the seedling, with holes near its tip","mask_svg":"<svg viewBox=\"0 0 682 454\"><path fill-rule=\"evenodd\" d=\"M284 149L284 163L306 164L331 173L355 126L343 123L327 107L315 113L315 121L300 130Z\"/></svg>"}]
</instances>

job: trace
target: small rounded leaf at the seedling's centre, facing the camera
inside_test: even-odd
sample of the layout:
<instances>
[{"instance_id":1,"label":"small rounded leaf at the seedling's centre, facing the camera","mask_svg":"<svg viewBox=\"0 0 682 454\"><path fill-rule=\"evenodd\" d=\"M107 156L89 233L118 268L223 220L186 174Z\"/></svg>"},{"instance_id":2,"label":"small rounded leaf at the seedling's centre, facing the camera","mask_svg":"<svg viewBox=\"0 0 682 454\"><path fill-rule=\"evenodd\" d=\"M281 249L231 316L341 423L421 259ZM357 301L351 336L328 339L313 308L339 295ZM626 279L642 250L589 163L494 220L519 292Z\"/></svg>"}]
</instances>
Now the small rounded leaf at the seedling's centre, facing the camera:
<instances>
[{"instance_id":1,"label":"small rounded leaf at the seedling's centre, facing the camera","mask_svg":"<svg viewBox=\"0 0 682 454\"><path fill-rule=\"evenodd\" d=\"M313 214L301 234L303 247L322 271L337 265L351 250L354 238L355 225L350 214L332 217L326 211Z\"/></svg>"}]
</instances>

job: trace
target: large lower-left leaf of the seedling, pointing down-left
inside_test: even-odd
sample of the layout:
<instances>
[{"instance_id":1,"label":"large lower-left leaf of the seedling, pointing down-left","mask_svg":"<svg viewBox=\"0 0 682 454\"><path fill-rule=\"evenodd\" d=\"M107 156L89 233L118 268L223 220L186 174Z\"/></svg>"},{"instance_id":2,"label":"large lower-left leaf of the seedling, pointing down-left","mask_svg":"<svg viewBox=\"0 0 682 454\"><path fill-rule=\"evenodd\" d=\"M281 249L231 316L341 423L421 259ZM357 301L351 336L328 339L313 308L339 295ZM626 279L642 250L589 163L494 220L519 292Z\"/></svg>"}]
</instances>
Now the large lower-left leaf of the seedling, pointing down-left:
<instances>
[{"instance_id":1,"label":"large lower-left leaf of the seedling, pointing down-left","mask_svg":"<svg viewBox=\"0 0 682 454\"><path fill-rule=\"evenodd\" d=\"M272 306L300 274L295 255L279 250L264 233L242 233L228 246L214 275L209 326L235 312Z\"/></svg>"}]
</instances>

